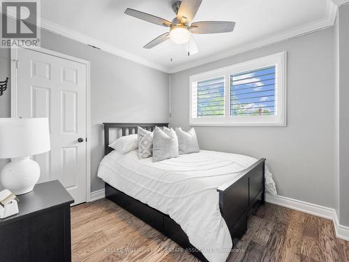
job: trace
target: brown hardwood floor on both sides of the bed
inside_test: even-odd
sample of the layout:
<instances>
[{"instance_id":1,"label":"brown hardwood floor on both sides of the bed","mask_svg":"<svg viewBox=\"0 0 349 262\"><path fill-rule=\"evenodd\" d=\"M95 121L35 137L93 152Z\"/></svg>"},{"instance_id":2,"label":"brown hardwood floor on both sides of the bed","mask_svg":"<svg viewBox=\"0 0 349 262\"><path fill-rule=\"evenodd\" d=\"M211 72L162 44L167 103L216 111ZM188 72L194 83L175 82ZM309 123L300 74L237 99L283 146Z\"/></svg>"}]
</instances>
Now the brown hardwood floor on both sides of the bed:
<instances>
[{"instance_id":1,"label":"brown hardwood floor on both sides of the bed","mask_svg":"<svg viewBox=\"0 0 349 262\"><path fill-rule=\"evenodd\" d=\"M77 205L71 214L73 261L199 261L112 201ZM266 203L228 261L349 261L349 242L335 237L332 221Z\"/></svg>"}]
</instances>

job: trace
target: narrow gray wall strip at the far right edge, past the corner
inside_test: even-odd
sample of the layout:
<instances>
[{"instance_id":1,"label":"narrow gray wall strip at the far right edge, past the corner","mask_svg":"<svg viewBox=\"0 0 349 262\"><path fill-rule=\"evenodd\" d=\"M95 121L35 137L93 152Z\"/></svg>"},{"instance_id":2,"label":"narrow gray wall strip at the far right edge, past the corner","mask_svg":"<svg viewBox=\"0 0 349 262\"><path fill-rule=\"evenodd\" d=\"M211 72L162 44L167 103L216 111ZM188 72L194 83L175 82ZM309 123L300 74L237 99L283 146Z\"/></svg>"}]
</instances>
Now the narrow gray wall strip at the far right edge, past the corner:
<instances>
[{"instance_id":1,"label":"narrow gray wall strip at the far right edge, past the corner","mask_svg":"<svg viewBox=\"0 0 349 262\"><path fill-rule=\"evenodd\" d=\"M340 223L349 226L349 4L339 8L339 196Z\"/></svg>"}]
</instances>

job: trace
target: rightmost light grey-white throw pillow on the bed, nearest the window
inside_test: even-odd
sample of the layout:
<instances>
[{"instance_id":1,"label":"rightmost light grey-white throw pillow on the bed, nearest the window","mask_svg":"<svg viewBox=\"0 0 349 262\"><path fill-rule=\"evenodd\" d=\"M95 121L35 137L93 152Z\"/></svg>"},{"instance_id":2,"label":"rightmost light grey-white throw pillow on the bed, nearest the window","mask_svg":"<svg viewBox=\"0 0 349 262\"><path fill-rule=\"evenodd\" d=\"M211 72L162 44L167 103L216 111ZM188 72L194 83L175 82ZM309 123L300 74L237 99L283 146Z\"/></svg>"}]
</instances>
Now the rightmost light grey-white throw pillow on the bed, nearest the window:
<instances>
[{"instance_id":1,"label":"rightmost light grey-white throw pillow on the bed, nearest the window","mask_svg":"<svg viewBox=\"0 0 349 262\"><path fill-rule=\"evenodd\" d=\"M176 134L178 137L178 149L179 154L190 154L195 152L200 152L200 147L198 144L198 138L196 138L195 129L191 129L188 132L181 130L179 127L176 129Z\"/></svg>"}]
</instances>

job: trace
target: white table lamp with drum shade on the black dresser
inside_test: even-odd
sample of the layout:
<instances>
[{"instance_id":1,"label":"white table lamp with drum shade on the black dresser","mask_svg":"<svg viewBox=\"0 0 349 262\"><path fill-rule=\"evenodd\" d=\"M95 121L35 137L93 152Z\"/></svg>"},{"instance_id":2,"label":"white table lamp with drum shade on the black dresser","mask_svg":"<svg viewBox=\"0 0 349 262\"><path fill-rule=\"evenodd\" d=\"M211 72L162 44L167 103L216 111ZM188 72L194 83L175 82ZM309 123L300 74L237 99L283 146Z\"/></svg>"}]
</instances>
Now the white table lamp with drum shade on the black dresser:
<instances>
[{"instance_id":1,"label":"white table lamp with drum shade on the black dresser","mask_svg":"<svg viewBox=\"0 0 349 262\"><path fill-rule=\"evenodd\" d=\"M40 167L30 159L50 151L47 118L0 118L0 159L10 158L0 173L0 186L15 195L33 190Z\"/></svg>"}]
</instances>

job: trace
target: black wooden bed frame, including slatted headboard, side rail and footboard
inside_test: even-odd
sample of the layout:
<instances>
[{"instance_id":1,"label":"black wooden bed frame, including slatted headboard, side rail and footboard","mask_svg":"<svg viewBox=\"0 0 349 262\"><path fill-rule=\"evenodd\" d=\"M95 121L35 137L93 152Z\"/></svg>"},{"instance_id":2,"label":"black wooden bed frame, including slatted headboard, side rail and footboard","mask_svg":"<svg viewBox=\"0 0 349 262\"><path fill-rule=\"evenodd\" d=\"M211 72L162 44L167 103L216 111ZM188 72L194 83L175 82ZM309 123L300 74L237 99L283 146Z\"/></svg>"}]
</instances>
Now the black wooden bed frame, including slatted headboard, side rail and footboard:
<instances>
[{"instance_id":1,"label":"black wooden bed frame, including slatted headboard, side rail and footboard","mask_svg":"<svg viewBox=\"0 0 349 262\"><path fill-rule=\"evenodd\" d=\"M142 126L152 131L156 125L168 126L167 123L105 123L105 154L109 154L112 151L108 147L111 142L109 139L109 129L121 129L122 136L126 136L126 133L137 133L137 126ZM248 216L258 207L259 203L264 203L265 201L265 159L258 160L244 170L237 180L221 185L217 191L219 194L221 214L229 228L233 245L236 245L237 241L247 230ZM171 219L168 214L149 207L149 205L124 194L107 183L105 183L105 197L156 228L168 236L168 238L181 245L181 247L187 249L194 256L198 257L201 261L207 261L200 250L191 245L188 236L181 229L181 226Z\"/></svg>"}]
</instances>

